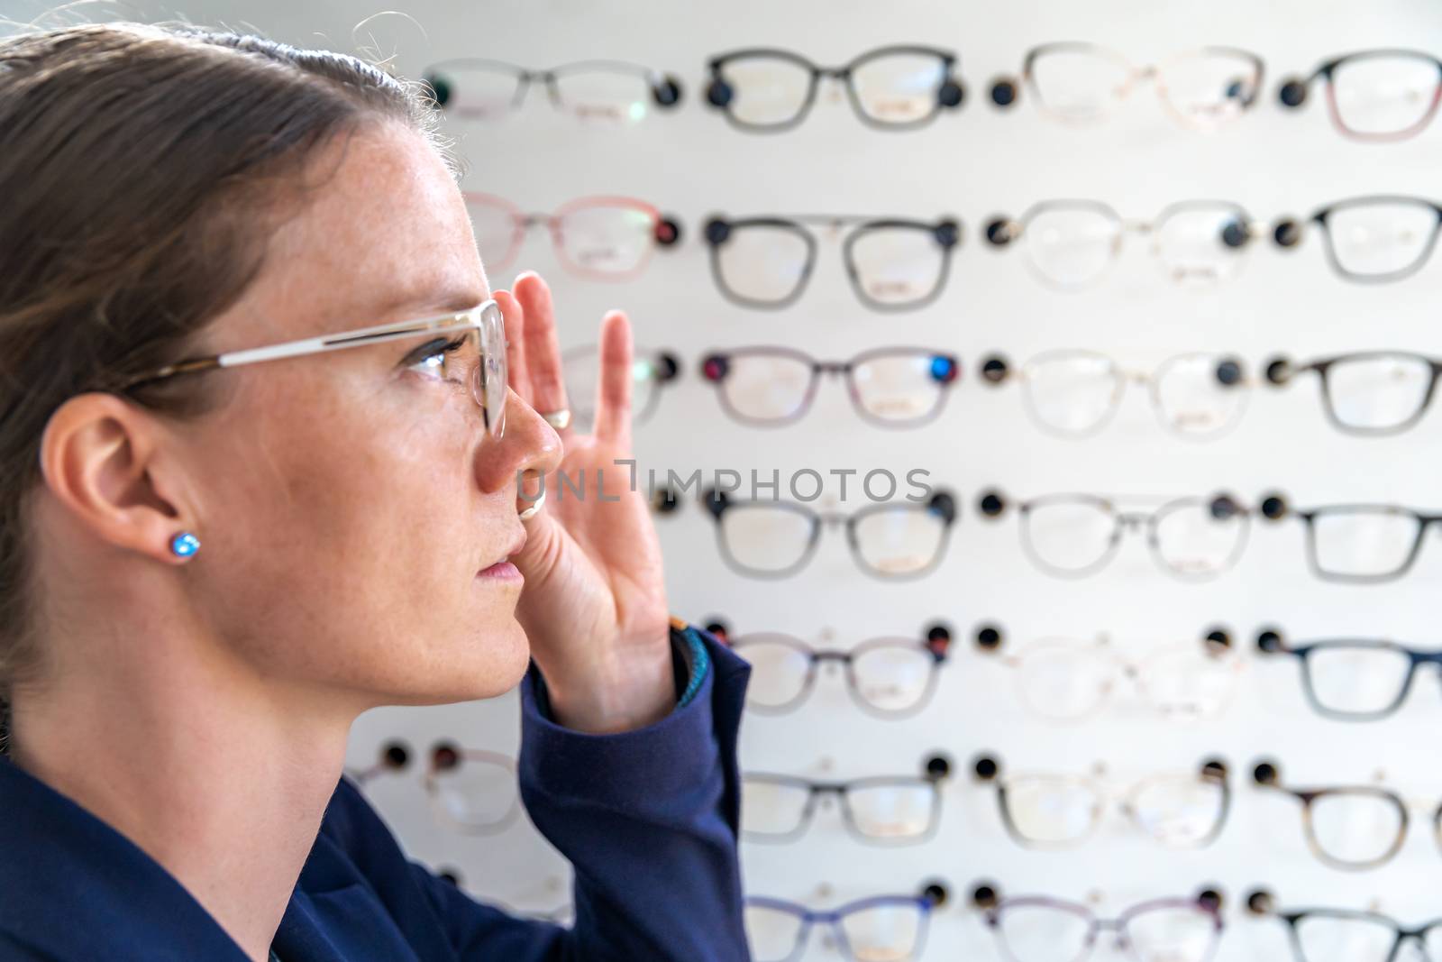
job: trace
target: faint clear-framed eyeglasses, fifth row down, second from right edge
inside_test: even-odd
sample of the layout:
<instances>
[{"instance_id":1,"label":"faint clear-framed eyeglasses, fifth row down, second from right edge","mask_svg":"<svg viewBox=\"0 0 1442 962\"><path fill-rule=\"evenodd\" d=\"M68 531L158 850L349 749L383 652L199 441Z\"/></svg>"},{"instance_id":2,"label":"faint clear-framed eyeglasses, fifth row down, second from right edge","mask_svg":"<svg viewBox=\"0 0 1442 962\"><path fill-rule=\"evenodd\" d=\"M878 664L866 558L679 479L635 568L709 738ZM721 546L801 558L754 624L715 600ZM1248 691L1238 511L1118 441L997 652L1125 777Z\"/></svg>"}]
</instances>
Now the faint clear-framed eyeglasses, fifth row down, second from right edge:
<instances>
[{"instance_id":1,"label":"faint clear-framed eyeglasses, fifth row down, second from right edge","mask_svg":"<svg viewBox=\"0 0 1442 962\"><path fill-rule=\"evenodd\" d=\"M999 629L978 635L982 650L999 650ZM1022 705L1048 721L1082 721L1131 689L1162 718L1194 721L1221 714L1230 704L1243 661L1231 637L1213 630L1193 640L1167 640L1145 653L1123 655L1112 639L1043 637L1001 656L1015 672Z\"/></svg>"}]
</instances>

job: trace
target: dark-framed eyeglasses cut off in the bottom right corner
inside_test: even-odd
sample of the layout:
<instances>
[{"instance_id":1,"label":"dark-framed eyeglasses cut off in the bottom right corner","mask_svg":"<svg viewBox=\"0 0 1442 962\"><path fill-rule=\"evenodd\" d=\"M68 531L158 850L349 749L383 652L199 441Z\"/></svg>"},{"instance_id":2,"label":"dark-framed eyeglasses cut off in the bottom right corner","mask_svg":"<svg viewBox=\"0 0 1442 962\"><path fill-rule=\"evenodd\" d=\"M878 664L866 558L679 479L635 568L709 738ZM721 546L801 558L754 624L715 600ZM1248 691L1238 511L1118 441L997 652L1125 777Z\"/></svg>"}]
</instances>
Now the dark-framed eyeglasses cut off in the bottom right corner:
<instances>
[{"instance_id":1,"label":"dark-framed eyeglasses cut off in the bottom right corner","mask_svg":"<svg viewBox=\"0 0 1442 962\"><path fill-rule=\"evenodd\" d=\"M1350 909L1282 910L1270 891L1247 896L1247 912L1286 926L1296 962L1403 962L1442 958L1442 919L1405 926L1380 912ZM1416 955L1403 955L1412 946Z\"/></svg>"}]
</instances>

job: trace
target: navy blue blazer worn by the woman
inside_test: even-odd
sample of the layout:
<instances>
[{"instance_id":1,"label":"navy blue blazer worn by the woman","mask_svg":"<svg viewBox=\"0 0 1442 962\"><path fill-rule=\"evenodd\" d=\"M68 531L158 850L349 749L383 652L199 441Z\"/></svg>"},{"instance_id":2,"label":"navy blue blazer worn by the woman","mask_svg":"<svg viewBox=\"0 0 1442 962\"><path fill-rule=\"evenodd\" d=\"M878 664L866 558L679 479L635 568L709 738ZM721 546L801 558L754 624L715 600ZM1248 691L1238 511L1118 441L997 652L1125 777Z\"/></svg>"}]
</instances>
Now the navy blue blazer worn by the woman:
<instances>
[{"instance_id":1,"label":"navy blue blazer worn by the woman","mask_svg":"<svg viewBox=\"0 0 1442 962\"><path fill-rule=\"evenodd\" d=\"M521 796L575 867L574 929L480 904L408 861L342 777L275 933L280 959L746 962L735 738L750 668L688 632L711 668L689 702L639 731L562 728L535 669L522 682ZM0 760L0 959L245 958L130 839Z\"/></svg>"}]
</instances>

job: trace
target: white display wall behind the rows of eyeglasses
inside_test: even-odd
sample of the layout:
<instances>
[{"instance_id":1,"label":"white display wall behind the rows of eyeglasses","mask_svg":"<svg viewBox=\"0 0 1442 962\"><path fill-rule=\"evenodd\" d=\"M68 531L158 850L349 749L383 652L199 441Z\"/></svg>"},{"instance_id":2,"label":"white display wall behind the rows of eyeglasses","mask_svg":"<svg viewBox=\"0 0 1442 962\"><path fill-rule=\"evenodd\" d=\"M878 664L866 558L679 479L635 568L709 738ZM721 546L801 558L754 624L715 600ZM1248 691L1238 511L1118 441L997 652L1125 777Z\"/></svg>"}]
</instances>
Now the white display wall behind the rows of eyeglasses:
<instances>
[{"instance_id":1,"label":"white display wall behind the rows of eyeglasses","mask_svg":"<svg viewBox=\"0 0 1442 962\"><path fill-rule=\"evenodd\" d=\"M989 521L976 498L1001 487L1012 498L1050 492L1182 496L1230 490L1256 505L1269 490L1293 503L1396 502L1442 509L1442 415L1387 438L1357 438L1325 420L1312 378L1279 391L1260 382L1275 353L1299 359L1363 349L1442 353L1442 262L1396 284L1355 284L1334 274L1312 231L1296 250L1272 244L1270 226L1305 218L1330 202L1376 193L1442 196L1442 123L1394 144L1355 143L1332 127L1319 87L1304 110L1286 111L1279 82L1309 74L1325 58L1367 48L1406 46L1442 53L1442 6L1433 0L1289 0L1161 3L1156 0L1019 0L1014 3L421 3L391 4L408 17L346 1L192 3L198 22L257 29L297 45L395 53L398 72L418 76L433 62L486 56L531 68L622 59L675 74L679 110L629 127L584 125L534 89L525 110L493 124L448 123L469 162L466 189L500 195L523 211L552 211L574 198L626 195L679 218L678 247L658 251L632 283L568 275L544 231L534 231L515 268L541 271L557 291L568 345L594 339L601 313L624 307L642 345L684 362L655 417L637 431L642 469L751 469L783 479L800 469L885 467L897 476L929 470L953 489L960 516L934 573L887 583L862 574L839 531L823 532L797 575L743 578L717 550L709 516L695 502L658 518L676 613L734 633L786 632L832 648L877 635L910 635L934 620L952 626L950 658L930 705L916 717L872 718L851 702L839 672L822 671L810 701L784 717L748 715L747 770L846 779L911 775L933 753L952 760L934 838L913 847L872 847L851 838L835 808L786 845L743 845L747 890L818 909L872 894L910 894L932 880L950 899L936 910L924 959L999 959L969 894L979 880L1007 894L1089 900L1103 914L1211 886L1224 893L1227 929L1218 959L1289 959L1285 927L1244 912L1246 894L1268 887L1283 907L1380 909L1403 923L1442 914L1442 851L1432 813L1442 802L1436 763L1442 691L1425 669L1407 704L1371 724L1331 721L1304 698L1292 658L1266 658L1263 626L1288 637L1384 636L1417 648L1442 646L1436 625L1442 539L1428 534L1415 570L1381 586L1318 580L1306 565L1304 526L1255 521L1240 562L1203 584L1162 573L1142 537L1128 537L1109 568L1084 580L1043 574L1025 558L1015 513ZM149 17L172 10L140 4ZM1172 123L1142 84L1107 123L1073 128L1047 120L1022 97L1009 111L988 97L998 75L1015 75L1027 49L1051 40L1092 40L1138 63L1198 45L1253 50L1266 76L1255 110L1216 133ZM966 101L917 131L864 127L823 84L809 120L793 131L734 130L705 104L705 62L735 48L779 46L820 63L844 63L885 43L927 43L959 55ZM1154 218L1177 200L1240 203L1263 235L1244 270L1207 288L1181 287L1158 270L1148 241L1128 235L1110 274L1089 290L1040 284L1018 250L985 242L998 213L1019 215L1038 200L1089 198L1128 219ZM960 218L963 239L940 297L911 313L874 313L849 288L839 245L822 235L809 290L790 309L757 312L724 300L712 281L702 226L712 213L857 213ZM711 349L786 345L844 359L883 345L956 353L960 381L943 414L911 431L872 427L852 412L839 381L826 379L810 414L777 428L744 427L722 412L698 374ZM1223 440L1194 443L1161 428L1144 389L1133 388L1116 418L1087 440L1037 428L1018 385L992 388L979 376L992 352L1014 363L1047 349L1087 348L1129 368L1152 368L1188 350L1226 350L1259 381L1240 425ZM835 495L835 487L829 489ZM864 503L854 498L842 511ZM1115 639L1126 652L1155 652L1230 632L1242 678L1230 707L1200 721L1152 712L1123 685L1094 718L1047 723L1028 712L999 655L972 643L978 626L1005 630L1001 655L1045 636ZM565 862L525 822L470 837L444 828L427 803L424 767L434 743L513 754L515 697L490 704L379 710L358 721L349 762L371 764L382 746L410 747L399 773L368 780L366 792L418 860L459 875L470 893L518 910L547 913L568 901ZM1119 811L1074 851L1031 851L1004 831L995 789L970 777L991 753L1009 772L1086 773L1105 763L1113 780L1191 769L1217 757L1230 769L1230 816L1216 844L1171 851L1146 839ZM1301 806L1252 782L1257 760L1282 764L1288 783L1348 785L1381 777L1413 812L1403 850L1387 865L1341 871L1321 864L1304 839ZM658 906L658 912L663 912ZM820 933L816 933L818 936ZM1110 958L1103 937L1093 958ZM813 937L808 959L835 958ZM1058 961L1067 956L1058 948ZM1118 958L1122 958L1118 955Z\"/></svg>"}]
</instances>

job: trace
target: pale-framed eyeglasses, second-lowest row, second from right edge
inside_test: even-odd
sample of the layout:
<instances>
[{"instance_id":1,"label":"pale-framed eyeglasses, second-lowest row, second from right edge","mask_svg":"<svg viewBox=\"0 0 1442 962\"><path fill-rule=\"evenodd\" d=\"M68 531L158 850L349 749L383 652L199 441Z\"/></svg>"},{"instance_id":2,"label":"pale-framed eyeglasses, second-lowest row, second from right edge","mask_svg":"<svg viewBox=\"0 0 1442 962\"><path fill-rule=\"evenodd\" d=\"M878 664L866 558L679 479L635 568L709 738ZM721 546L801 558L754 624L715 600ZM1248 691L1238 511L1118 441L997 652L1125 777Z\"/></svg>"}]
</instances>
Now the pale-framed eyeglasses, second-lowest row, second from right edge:
<instances>
[{"instance_id":1,"label":"pale-framed eyeglasses, second-lowest row, second from right edge","mask_svg":"<svg viewBox=\"0 0 1442 962\"><path fill-rule=\"evenodd\" d=\"M1162 772L1115 783L1092 775L1019 772L1007 775L989 756L976 776L996 785L1007 834L1028 848L1073 848L1096 834L1109 809L1168 848L1206 848L1221 834L1231 808L1227 767L1208 760L1193 772Z\"/></svg>"}]
</instances>

